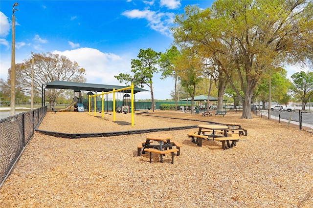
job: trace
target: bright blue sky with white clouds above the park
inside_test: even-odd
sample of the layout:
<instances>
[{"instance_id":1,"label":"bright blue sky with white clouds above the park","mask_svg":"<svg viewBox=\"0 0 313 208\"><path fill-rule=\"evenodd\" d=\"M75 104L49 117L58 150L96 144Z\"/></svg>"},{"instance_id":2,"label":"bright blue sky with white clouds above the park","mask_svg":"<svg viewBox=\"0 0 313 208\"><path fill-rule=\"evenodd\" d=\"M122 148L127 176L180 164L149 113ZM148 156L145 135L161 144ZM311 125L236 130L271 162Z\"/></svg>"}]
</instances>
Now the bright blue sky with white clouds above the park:
<instances>
[{"instance_id":1,"label":"bright blue sky with white clouds above the park","mask_svg":"<svg viewBox=\"0 0 313 208\"><path fill-rule=\"evenodd\" d=\"M116 84L114 75L131 73L140 49L165 52L173 37L170 27L186 5L205 9L213 0L1 0L0 78L11 67L12 6L16 21L16 63L34 53L67 56L86 69L87 83ZM299 71L288 67L289 77ZM153 78L155 99L170 99L172 78ZM147 86L145 89L149 88ZM150 99L149 92L136 99Z\"/></svg>"}]
</instances>

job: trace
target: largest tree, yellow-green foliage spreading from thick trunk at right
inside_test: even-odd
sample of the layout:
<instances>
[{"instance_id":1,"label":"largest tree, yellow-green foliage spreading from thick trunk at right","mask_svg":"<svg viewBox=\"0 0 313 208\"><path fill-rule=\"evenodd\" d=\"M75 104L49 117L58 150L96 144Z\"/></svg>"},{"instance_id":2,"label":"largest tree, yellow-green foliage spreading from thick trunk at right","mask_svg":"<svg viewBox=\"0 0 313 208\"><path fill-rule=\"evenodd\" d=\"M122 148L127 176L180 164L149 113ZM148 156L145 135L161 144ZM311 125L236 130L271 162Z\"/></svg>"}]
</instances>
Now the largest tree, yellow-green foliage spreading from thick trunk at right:
<instances>
[{"instance_id":1,"label":"largest tree, yellow-green foliage spreading from thick trunk at right","mask_svg":"<svg viewBox=\"0 0 313 208\"><path fill-rule=\"evenodd\" d=\"M217 0L203 11L186 7L175 22L175 42L206 50L224 71L243 103L241 118L252 118L253 91L268 70L285 62L313 60L312 2ZM231 79L234 71L240 88Z\"/></svg>"}]
</instances>

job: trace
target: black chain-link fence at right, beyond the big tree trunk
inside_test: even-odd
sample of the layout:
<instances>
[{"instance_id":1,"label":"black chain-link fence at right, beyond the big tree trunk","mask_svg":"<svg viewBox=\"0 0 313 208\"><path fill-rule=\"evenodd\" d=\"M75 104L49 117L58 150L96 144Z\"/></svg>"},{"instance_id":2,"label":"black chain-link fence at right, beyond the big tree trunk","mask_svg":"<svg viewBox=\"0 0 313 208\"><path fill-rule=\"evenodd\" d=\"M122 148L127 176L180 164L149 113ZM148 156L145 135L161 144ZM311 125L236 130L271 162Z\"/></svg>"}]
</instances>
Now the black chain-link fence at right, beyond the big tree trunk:
<instances>
[{"instance_id":1,"label":"black chain-link fence at right, beyond the big tree trunk","mask_svg":"<svg viewBox=\"0 0 313 208\"><path fill-rule=\"evenodd\" d=\"M301 130L306 130L313 133L313 111L306 110L294 110L294 111L284 111L284 110L274 110L270 111L268 109L257 109L253 108L253 114L276 120L279 123L286 123L289 126L295 126Z\"/></svg>"}]
</instances>

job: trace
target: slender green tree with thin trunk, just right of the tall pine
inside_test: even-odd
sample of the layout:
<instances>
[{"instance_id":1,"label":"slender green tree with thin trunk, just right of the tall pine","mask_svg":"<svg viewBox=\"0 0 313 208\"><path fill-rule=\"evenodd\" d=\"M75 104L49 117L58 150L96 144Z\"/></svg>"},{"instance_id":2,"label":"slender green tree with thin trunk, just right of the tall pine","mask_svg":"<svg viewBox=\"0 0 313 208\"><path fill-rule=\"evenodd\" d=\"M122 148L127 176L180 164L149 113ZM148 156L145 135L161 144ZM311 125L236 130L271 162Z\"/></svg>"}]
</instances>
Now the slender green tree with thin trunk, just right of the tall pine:
<instances>
[{"instance_id":1,"label":"slender green tree with thin trunk, just right of the tall pine","mask_svg":"<svg viewBox=\"0 0 313 208\"><path fill-rule=\"evenodd\" d=\"M175 45L173 45L170 49L167 49L165 53L160 55L159 65L162 71L161 79L165 79L167 77L173 77L175 80L175 110L177 110L177 81L178 74L175 69L175 60L179 56L180 52Z\"/></svg>"}]
</instances>

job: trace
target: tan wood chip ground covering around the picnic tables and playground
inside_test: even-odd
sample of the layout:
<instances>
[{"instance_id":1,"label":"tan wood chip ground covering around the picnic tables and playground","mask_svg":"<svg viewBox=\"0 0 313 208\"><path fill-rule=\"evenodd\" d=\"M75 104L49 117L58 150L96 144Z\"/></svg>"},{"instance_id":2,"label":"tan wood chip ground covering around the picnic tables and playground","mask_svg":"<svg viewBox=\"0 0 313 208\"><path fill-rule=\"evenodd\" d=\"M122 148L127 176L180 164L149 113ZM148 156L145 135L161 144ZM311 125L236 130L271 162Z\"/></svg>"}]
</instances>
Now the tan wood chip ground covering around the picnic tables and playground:
<instances>
[{"instance_id":1,"label":"tan wood chip ground covering around the picnic tables and playground","mask_svg":"<svg viewBox=\"0 0 313 208\"><path fill-rule=\"evenodd\" d=\"M151 164L148 153L137 157L137 142L147 133L64 139L35 132L0 189L0 207L313 207L312 133L256 116L240 119L241 112L231 111L224 117L150 111L135 114L134 126L105 116L47 112L39 129L99 133L212 121L241 123L248 136L223 150L217 141L193 144L187 132L197 128L158 132L183 145L172 165L170 154L163 163L156 154ZM116 121L131 123L131 114L116 114Z\"/></svg>"}]
</instances>

